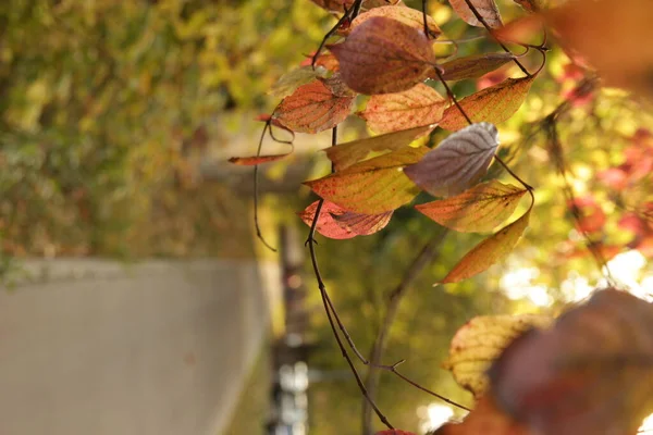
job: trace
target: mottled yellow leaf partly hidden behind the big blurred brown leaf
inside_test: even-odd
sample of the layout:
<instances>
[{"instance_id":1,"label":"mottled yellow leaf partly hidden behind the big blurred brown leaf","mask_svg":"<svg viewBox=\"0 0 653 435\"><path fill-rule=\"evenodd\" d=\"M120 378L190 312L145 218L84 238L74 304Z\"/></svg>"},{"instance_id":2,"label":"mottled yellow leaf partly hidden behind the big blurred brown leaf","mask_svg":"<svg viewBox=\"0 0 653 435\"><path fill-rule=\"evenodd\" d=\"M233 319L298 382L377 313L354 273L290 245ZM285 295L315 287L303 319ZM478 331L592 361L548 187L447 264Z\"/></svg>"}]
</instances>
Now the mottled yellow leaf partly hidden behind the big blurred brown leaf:
<instances>
[{"instance_id":1,"label":"mottled yellow leaf partly hidden behind the big blurred brown leaf","mask_svg":"<svg viewBox=\"0 0 653 435\"><path fill-rule=\"evenodd\" d=\"M501 352L531 327L546 327L552 319L545 315L479 315L460 327L449 346L442 368L449 370L463 388L475 397L488 393L490 381L485 372Z\"/></svg>"}]
</instances>

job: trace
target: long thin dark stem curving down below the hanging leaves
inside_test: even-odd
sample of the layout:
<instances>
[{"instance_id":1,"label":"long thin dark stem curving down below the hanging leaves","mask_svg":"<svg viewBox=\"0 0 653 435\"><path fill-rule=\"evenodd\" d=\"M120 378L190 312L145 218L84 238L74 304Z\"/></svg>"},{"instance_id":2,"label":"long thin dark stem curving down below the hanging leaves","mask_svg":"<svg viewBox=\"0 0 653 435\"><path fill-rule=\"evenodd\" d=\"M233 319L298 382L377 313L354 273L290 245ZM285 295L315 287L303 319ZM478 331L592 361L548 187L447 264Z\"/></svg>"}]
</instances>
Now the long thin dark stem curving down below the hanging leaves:
<instances>
[{"instance_id":1,"label":"long thin dark stem curving down below the hanging leaves","mask_svg":"<svg viewBox=\"0 0 653 435\"><path fill-rule=\"evenodd\" d=\"M336 140L337 140L337 127L333 127L331 146L335 146ZM320 219L320 212L322 210L323 203L324 203L324 199L322 198L322 199L320 199L320 201L318 202L318 207L316 208L316 214L313 216L313 222L310 227L306 243L308 244L308 249L310 251L310 261L312 263L316 279L318 282L320 295L322 296L322 303L324 306L324 311L326 312L326 318L329 319L329 324L331 325L331 331L333 332L333 336L335 337L335 340L341 350L341 353L342 353L343 358L347 361L347 364L349 365L349 369L352 370L352 373L354 374L354 377L356 378L356 383L358 384L358 388L360 389L360 393L362 393L362 395L367 398L368 403L370 405L370 407L372 407L372 409L379 417L379 420L381 420L381 422L383 424L385 424L385 426L387 426L387 428L394 428L394 426L390 423L390 421L387 421L387 419L385 418L383 412L381 412L379 407L377 407L377 403L374 403L374 401L369 397L367 388L365 387L365 384L362 383L360 375L358 374L358 371L356 370L356 366L354 365L354 362L352 361L352 358L349 358L347 349L343 345L343 341L337 333L337 330L335 328L335 323L333 322L333 316L332 316L332 312L331 312L331 308L330 308L331 306L328 302L329 295L326 293L326 286L324 285L324 281L322 279L322 275L320 273L320 268L318 265L318 258L316 254L315 231L316 231L317 222ZM334 314L335 314L335 312L334 312Z\"/></svg>"}]
</instances>

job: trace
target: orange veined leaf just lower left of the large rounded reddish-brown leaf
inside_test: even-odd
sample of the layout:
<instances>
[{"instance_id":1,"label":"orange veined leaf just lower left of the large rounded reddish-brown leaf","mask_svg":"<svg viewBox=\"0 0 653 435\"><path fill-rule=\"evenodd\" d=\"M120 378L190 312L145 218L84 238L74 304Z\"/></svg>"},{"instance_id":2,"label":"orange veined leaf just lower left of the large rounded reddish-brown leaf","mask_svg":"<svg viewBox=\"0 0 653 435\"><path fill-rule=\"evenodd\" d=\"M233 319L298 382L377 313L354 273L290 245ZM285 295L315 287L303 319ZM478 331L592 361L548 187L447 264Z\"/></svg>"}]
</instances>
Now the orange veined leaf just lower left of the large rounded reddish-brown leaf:
<instances>
[{"instance_id":1,"label":"orange veined leaf just lower left of the large rounded reddish-brown leaf","mask_svg":"<svg viewBox=\"0 0 653 435\"><path fill-rule=\"evenodd\" d=\"M335 96L324 80L318 78L284 98L272 117L293 132L318 133L343 122L353 103L354 97Z\"/></svg>"}]
</instances>

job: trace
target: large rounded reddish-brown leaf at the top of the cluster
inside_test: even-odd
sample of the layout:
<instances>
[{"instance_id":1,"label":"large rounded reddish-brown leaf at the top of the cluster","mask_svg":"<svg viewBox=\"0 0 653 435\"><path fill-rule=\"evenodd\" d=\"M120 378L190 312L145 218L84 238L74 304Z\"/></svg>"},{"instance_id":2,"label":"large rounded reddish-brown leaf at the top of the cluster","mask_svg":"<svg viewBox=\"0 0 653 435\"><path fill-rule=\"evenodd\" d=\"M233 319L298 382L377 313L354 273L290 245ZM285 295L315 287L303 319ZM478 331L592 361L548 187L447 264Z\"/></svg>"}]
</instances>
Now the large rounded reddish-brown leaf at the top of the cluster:
<instances>
[{"instance_id":1,"label":"large rounded reddish-brown leaf at the top of the cluster","mask_svg":"<svg viewBox=\"0 0 653 435\"><path fill-rule=\"evenodd\" d=\"M410 89L427 78L435 63L423 32L385 16L366 20L343 44L328 48L337 58L347 86L368 95Z\"/></svg>"}]
</instances>

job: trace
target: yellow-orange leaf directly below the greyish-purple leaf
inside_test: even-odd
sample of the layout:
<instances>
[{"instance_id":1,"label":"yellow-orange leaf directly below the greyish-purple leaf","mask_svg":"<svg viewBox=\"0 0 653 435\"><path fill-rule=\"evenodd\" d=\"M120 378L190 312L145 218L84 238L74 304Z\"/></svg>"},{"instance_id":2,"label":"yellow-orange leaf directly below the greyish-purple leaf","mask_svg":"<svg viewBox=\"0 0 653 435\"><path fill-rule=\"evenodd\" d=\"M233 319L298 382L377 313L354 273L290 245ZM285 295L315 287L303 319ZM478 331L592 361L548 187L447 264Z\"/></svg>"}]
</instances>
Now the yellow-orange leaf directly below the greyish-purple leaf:
<instances>
[{"instance_id":1,"label":"yellow-orange leaf directly below the greyish-purple leaf","mask_svg":"<svg viewBox=\"0 0 653 435\"><path fill-rule=\"evenodd\" d=\"M458 232L489 232L510 217L526 189L497 181L479 184L460 195L415 208Z\"/></svg>"}]
</instances>

